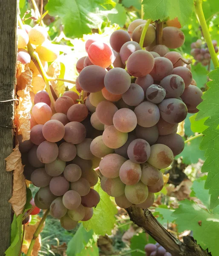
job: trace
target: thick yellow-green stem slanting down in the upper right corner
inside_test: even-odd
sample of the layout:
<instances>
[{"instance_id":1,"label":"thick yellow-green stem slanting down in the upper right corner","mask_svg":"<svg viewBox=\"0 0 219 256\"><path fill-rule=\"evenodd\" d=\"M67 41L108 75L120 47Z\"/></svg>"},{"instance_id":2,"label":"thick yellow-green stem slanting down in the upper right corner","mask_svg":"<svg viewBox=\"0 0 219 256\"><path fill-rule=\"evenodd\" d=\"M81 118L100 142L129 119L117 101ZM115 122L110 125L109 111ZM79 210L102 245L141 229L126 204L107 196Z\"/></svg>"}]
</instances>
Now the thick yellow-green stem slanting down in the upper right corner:
<instances>
[{"instance_id":1,"label":"thick yellow-green stem slanting down in the upper right corner","mask_svg":"<svg viewBox=\"0 0 219 256\"><path fill-rule=\"evenodd\" d=\"M208 50L210 52L210 57L213 61L214 67L216 68L216 67L219 66L219 61L218 61L216 52L214 50L211 38L210 38L210 33L208 31L208 28L207 28L207 23L206 23L206 20L205 20L203 9L202 9L202 0L196 0L196 2L195 2L195 11L196 11L196 15L198 17L200 26L202 27L202 32L203 32L203 35L205 37L205 41L207 43Z\"/></svg>"}]
</instances>

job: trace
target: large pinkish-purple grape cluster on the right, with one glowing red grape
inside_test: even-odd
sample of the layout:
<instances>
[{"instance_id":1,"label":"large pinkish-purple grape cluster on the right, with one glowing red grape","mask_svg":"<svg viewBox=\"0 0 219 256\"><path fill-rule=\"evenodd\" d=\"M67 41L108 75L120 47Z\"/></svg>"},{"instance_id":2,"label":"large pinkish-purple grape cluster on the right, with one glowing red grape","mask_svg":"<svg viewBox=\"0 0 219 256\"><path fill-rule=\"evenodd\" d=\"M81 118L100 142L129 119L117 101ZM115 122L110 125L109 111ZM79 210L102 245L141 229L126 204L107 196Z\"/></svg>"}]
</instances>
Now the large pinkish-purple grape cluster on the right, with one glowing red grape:
<instances>
[{"instance_id":1,"label":"large pinkish-purple grape cluster on the right, with one glowing red grape","mask_svg":"<svg viewBox=\"0 0 219 256\"><path fill-rule=\"evenodd\" d=\"M167 48L181 47L183 32L165 27L164 45L153 46L156 31L150 24L143 47L151 49L143 50L139 41L145 22L138 19L127 32L113 32L111 47L87 40L88 56L76 64L76 88L89 94L91 124L101 131L90 144L91 153L101 159L101 188L122 208L153 204L154 193L164 186L161 169L184 148L176 134L178 123L187 112L196 113L202 101L182 55Z\"/></svg>"}]
</instances>

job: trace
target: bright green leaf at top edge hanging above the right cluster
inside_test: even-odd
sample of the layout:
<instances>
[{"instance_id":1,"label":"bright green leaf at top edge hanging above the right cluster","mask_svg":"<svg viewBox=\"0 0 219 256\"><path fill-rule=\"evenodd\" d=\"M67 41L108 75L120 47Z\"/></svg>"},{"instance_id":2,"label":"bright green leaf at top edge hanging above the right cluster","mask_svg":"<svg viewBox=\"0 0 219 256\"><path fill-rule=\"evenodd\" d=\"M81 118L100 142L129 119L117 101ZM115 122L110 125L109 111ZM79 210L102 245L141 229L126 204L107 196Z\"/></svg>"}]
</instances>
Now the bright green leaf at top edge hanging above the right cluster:
<instances>
[{"instance_id":1,"label":"bright green leaf at top edge hanging above the right cluster","mask_svg":"<svg viewBox=\"0 0 219 256\"><path fill-rule=\"evenodd\" d=\"M144 19L164 20L170 17L173 20L178 17L179 22L184 26L193 13L193 0L143 0Z\"/></svg>"}]
</instances>

